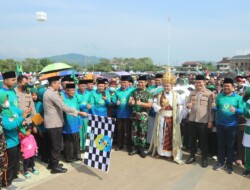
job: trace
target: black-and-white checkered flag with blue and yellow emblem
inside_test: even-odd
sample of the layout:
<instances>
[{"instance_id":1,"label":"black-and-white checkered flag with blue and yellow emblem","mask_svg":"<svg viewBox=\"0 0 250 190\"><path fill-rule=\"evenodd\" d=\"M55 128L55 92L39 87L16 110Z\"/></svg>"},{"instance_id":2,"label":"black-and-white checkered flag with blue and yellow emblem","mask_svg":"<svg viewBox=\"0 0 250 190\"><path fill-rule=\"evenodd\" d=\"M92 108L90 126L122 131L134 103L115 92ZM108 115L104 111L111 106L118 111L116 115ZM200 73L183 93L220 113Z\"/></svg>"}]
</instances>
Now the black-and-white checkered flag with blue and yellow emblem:
<instances>
[{"instance_id":1,"label":"black-and-white checkered flag with blue and yellow emblem","mask_svg":"<svg viewBox=\"0 0 250 190\"><path fill-rule=\"evenodd\" d=\"M88 115L84 164L108 172L116 120Z\"/></svg>"}]
</instances>

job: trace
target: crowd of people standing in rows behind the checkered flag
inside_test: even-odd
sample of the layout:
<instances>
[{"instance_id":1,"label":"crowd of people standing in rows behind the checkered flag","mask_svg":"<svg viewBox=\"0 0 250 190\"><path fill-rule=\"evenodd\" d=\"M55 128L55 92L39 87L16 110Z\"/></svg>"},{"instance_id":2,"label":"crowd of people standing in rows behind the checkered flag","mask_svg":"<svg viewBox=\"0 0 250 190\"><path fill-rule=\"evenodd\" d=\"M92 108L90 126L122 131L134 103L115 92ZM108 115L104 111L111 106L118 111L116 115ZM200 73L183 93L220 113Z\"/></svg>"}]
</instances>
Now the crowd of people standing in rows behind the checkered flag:
<instances>
[{"instance_id":1,"label":"crowd of people standing in rows behind the checkered flag","mask_svg":"<svg viewBox=\"0 0 250 190\"><path fill-rule=\"evenodd\" d=\"M170 70L154 76L106 78L50 77L30 82L14 71L2 73L0 88L0 176L5 189L17 189L23 175L37 175L35 157L52 174L59 163L83 160L88 114L116 118L115 151L129 156L152 154L177 164L196 162L234 172L245 165L250 175L250 76L220 78ZM184 161L183 150L190 153Z\"/></svg>"}]
</instances>

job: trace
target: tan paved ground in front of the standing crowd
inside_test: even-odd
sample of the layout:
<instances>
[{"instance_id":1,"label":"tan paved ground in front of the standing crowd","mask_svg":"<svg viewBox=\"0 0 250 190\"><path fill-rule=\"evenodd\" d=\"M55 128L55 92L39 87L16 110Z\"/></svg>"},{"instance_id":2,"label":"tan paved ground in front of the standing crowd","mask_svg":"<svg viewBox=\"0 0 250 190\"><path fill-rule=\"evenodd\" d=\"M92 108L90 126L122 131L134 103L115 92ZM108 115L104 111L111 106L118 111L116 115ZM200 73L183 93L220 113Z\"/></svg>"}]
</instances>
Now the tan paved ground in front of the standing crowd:
<instances>
[{"instance_id":1,"label":"tan paved ground in front of the standing crowd","mask_svg":"<svg viewBox=\"0 0 250 190\"><path fill-rule=\"evenodd\" d=\"M242 177L243 167L235 166L235 173L213 171L199 162L193 165L177 165L164 159L138 155L128 156L123 151L113 151L109 173L92 169L81 162L64 164L66 174L51 175L44 165L37 164L40 174L21 184L22 189L102 189L102 190L249 190L250 178Z\"/></svg>"}]
</instances>

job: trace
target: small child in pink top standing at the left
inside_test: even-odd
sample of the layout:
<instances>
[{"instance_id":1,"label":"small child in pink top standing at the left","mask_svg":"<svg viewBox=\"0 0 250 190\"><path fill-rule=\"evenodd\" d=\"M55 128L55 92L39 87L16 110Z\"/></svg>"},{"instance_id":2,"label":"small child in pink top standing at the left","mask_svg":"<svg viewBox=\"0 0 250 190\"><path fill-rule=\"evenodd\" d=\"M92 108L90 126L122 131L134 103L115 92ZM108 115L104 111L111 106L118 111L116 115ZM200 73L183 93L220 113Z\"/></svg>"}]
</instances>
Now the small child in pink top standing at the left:
<instances>
[{"instance_id":1,"label":"small child in pink top standing at the left","mask_svg":"<svg viewBox=\"0 0 250 190\"><path fill-rule=\"evenodd\" d=\"M24 176L29 179L31 176L28 172L28 168L32 168L33 174L38 174L35 168L35 156L38 153L38 147L34 136L31 134L32 128L30 126L22 128L20 131L19 139L21 140L21 152L24 158L23 171Z\"/></svg>"}]
</instances>

